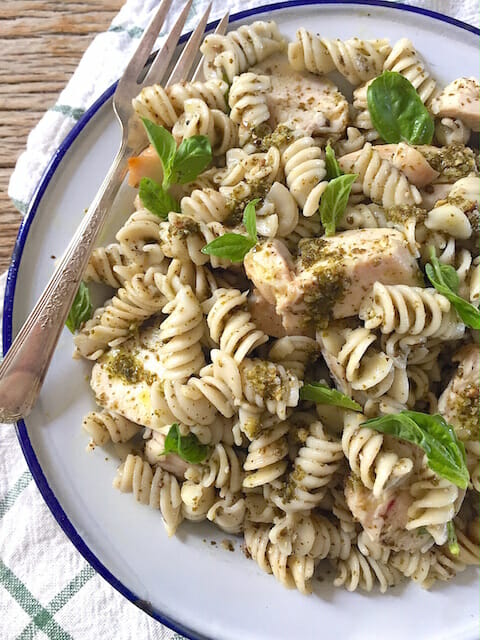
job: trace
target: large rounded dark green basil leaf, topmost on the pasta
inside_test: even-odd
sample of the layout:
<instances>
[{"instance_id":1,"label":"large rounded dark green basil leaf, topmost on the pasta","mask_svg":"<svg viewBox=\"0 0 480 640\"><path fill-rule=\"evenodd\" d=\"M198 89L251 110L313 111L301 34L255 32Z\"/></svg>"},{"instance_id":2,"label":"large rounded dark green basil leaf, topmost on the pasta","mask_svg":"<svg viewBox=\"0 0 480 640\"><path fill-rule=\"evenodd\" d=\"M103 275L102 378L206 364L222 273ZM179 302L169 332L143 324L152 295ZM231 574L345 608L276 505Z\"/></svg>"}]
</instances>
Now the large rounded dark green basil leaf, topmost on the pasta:
<instances>
[{"instance_id":1,"label":"large rounded dark green basil leaf, topmost on the pasta","mask_svg":"<svg viewBox=\"0 0 480 640\"><path fill-rule=\"evenodd\" d=\"M396 71L384 71L367 89L373 126L385 142L430 144L434 122L412 83Z\"/></svg>"}]
</instances>

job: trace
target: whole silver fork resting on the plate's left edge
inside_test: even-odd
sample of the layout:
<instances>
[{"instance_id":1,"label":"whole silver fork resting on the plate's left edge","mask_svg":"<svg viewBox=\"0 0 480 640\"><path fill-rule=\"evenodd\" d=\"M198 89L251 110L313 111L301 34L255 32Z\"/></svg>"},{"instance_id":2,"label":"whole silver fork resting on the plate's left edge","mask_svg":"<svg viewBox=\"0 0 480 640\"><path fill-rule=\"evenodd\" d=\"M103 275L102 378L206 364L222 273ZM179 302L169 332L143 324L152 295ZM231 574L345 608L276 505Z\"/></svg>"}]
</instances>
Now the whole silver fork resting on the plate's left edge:
<instances>
[{"instance_id":1,"label":"whole silver fork resting on the plate's left edge","mask_svg":"<svg viewBox=\"0 0 480 640\"><path fill-rule=\"evenodd\" d=\"M165 44L143 76L145 65L171 3L172 0L163 0L115 91L113 108L122 128L122 141L115 160L60 264L0 365L0 422L14 422L27 416L35 404L90 253L125 178L127 160L130 156L140 153L146 146L145 133L138 118L134 117L132 98L144 86L153 82L163 82L168 86L179 80L187 80L193 69L211 4L190 36L173 72L165 81L164 76L192 5L192 0L188 0ZM227 25L228 13L219 22L215 32L225 33ZM194 77L198 77L200 64L193 74Z\"/></svg>"}]
</instances>

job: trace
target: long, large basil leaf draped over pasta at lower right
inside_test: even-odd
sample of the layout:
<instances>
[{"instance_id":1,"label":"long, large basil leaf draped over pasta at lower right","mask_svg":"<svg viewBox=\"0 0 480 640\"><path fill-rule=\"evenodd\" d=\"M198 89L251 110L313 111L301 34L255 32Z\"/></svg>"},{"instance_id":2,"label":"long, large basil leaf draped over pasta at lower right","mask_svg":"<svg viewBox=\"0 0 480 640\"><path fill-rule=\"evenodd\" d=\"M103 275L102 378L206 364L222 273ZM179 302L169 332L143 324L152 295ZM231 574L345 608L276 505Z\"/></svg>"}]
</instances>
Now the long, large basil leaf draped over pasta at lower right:
<instances>
[{"instance_id":1,"label":"long, large basil leaf draped over pasta at lower right","mask_svg":"<svg viewBox=\"0 0 480 640\"><path fill-rule=\"evenodd\" d=\"M401 411L367 420L361 426L413 442L425 451L432 471L461 489L467 488L470 476L465 463L465 448L453 427L442 416Z\"/></svg>"}]
</instances>

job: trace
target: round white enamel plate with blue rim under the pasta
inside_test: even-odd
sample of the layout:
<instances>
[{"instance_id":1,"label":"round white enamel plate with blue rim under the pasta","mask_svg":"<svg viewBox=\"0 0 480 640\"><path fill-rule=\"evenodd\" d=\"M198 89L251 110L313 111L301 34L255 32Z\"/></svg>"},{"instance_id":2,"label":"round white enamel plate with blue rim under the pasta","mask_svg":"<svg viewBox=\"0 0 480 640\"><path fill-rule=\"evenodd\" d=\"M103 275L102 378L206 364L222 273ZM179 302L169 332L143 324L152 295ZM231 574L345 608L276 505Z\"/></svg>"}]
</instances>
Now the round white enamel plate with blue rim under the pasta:
<instances>
[{"instance_id":1,"label":"round white enamel plate with blue rim under the pasta","mask_svg":"<svg viewBox=\"0 0 480 640\"><path fill-rule=\"evenodd\" d=\"M407 36L441 83L477 75L475 30L454 21L380 3L286 5L271 5L263 15L246 12L240 20L275 19L290 37L301 26L331 38ZM12 320L15 333L52 272L51 256L61 255L115 154L119 136L110 95L64 143L24 223L8 283L6 346ZM131 197L131 190L123 194L110 236L130 213ZM72 361L71 353L71 335L64 331L40 401L26 425L19 424L19 438L45 500L77 548L157 619L190 637L216 640L477 637L474 570L431 592L409 584L386 595L351 594L317 582L315 595L305 597L247 560L237 540L234 553L212 546L211 540L226 536L211 525L183 524L178 537L167 539L158 512L112 489L113 457L106 460L99 448L85 452L81 419L94 407L89 367Z\"/></svg>"}]
</instances>

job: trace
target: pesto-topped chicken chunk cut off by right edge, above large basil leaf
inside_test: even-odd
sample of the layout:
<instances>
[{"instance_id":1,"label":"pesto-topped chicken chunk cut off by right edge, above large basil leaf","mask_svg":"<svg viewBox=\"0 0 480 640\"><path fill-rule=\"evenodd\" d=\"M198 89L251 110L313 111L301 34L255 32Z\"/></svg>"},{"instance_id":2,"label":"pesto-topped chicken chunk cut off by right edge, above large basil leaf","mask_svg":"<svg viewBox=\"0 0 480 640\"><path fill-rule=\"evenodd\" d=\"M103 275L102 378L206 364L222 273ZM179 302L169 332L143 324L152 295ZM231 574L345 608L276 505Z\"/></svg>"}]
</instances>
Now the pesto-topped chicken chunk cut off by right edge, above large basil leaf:
<instances>
[{"instance_id":1,"label":"pesto-topped chicken chunk cut off by right edge, above large basil leaf","mask_svg":"<svg viewBox=\"0 0 480 640\"><path fill-rule=\"evenodd\" d=\"M453 360L460 364L438 401L438 411L462 440L479 437L479 358L475 344L458 351Z\"/></svg>"}]
</instances>

